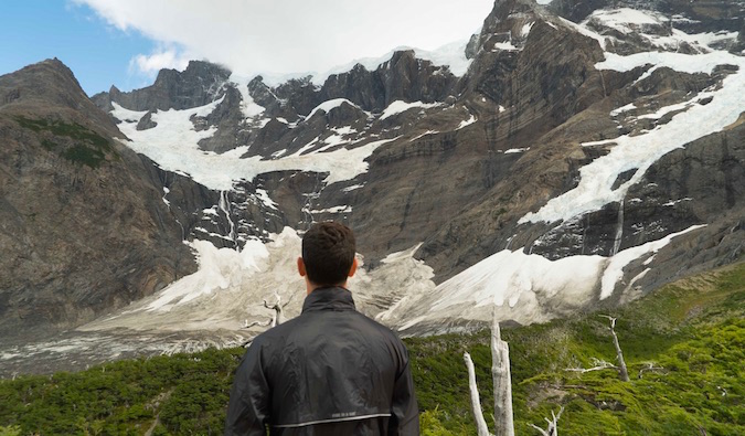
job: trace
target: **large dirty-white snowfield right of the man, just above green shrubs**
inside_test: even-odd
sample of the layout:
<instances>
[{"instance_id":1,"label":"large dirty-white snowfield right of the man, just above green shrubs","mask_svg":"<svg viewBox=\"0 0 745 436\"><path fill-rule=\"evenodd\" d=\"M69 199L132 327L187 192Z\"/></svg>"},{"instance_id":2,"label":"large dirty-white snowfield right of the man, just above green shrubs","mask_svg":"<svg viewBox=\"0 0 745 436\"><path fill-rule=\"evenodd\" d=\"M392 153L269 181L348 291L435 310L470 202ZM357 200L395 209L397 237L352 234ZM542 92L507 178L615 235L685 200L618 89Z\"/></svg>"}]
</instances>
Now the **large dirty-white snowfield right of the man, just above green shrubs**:
<instances>
[{"instance_id":1,"label":"large dirty-white snowfield right of the man, just above green shrubs","mask_svg":"<svg viewBox=\"0 0 745 436\"><path fill-rule=\"evenodd\" d=\"M682 232L627 248L613 257L577 255L550 260L523 249L496 253L438 285L434 290L409 295L381 319L401 330L417 325L441 326L444 320L499 319L521 323L546 321L562 311L571 312L597 298L613 294L622 269L645 254L657 253ZM546 307L551 311L546 311Z\"/></svg>"}]
</instances>

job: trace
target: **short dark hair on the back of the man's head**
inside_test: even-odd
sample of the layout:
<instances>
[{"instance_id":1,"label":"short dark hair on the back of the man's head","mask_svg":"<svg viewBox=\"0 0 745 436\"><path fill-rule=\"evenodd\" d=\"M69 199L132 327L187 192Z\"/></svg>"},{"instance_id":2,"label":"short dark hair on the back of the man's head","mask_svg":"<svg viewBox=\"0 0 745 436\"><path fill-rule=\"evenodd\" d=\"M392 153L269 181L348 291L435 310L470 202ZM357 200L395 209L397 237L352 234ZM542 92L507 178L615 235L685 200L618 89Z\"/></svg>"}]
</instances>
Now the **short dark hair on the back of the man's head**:
<instances>
[{"instance_id":1,"label":"short dark hair on the back of the man's head","mask_svg":"<svg viewBox=\"0 0 745 436\"><path fill-rule=\"evenodd\" d=\"M316 223L302 236L302 262L316 285L347 281L355 252L354 233L340 223Z\"/></svg>"}]
</instances>

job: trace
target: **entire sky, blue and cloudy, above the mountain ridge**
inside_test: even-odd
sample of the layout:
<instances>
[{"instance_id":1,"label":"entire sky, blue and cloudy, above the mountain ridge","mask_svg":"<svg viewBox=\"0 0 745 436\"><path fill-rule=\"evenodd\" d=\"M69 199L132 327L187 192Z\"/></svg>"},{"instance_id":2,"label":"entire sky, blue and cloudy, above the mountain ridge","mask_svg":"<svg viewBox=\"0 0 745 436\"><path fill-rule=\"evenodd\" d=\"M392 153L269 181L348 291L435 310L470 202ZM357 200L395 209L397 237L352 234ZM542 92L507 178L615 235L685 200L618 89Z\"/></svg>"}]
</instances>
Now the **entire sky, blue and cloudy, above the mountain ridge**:
<instances>
[{"instance_id":1,"label":"entire sky, blue and cloudy, above the mountain ridge","mask_svg":"<svg viewBox=\"0 0 745 436\"><path fill-rule=\"evenodd\" d=\"M8 0L0 75L57 57L88 95L148 86L189 60L254 76L322 73L478 31L493 0Z\"/></svg>"}]
</instances>

